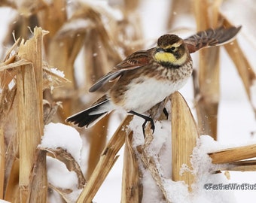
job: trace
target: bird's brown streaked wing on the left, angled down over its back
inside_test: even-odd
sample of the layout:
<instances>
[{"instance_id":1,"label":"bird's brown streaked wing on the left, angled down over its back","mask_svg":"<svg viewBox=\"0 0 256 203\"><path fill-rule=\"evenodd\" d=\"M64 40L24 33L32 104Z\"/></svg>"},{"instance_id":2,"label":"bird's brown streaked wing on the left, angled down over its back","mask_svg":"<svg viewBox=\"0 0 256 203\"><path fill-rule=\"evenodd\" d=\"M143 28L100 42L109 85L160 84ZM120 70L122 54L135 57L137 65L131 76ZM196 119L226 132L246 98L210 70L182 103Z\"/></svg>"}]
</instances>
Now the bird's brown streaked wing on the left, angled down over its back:
<instances>
[{"instance_id":1,"label":"bird's brown streaked wing on the left, angled down over its back","mask_svg":"<svg viewBox=\"0 0 256 203\"><path fill-rule=\"evenodd\" d=\"M105 74L105 76L93 84L93 86L90 87L89 92L95 92L104 86L105 83L120 77L124 71L130 71L148 65L148 62L150 61L150 53L151 50L141 50L131 54L126 59L124 59L123 62L117 64L112 71L110 71L108 74Z\"/></svg>"}]
</instances>

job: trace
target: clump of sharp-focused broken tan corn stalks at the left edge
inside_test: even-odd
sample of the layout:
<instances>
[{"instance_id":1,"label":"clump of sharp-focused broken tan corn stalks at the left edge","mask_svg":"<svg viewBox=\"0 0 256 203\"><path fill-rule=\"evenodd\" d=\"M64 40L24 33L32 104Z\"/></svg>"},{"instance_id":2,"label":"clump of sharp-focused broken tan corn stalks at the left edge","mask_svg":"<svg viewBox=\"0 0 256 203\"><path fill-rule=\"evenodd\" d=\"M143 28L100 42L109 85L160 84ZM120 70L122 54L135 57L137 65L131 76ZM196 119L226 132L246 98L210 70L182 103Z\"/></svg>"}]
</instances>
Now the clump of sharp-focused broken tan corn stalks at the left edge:
<instances>
[{"instance_id":1,"label":"clump of sharp-focused broken tan corn stalks at the left edge","mask_svg":"<svg viewBox=\"0 0 256 203\"><path fill-rule=\"evenodd\" d=\"M42 62L42 38L46 33L35 28L34 37L22 40L20 47L19 40L14 43L0 64L0 120L8 144L1 172L5 172L5 199L11 202L45 202L47 198L46 155L37 150L44 128L43 90L67 80ZM11 82L14 85L9 87ZM13 130L11 134L8 125L15 113L17 133ZM49 114L47 118L51 119Z\"/></svg>"}]
</instances>

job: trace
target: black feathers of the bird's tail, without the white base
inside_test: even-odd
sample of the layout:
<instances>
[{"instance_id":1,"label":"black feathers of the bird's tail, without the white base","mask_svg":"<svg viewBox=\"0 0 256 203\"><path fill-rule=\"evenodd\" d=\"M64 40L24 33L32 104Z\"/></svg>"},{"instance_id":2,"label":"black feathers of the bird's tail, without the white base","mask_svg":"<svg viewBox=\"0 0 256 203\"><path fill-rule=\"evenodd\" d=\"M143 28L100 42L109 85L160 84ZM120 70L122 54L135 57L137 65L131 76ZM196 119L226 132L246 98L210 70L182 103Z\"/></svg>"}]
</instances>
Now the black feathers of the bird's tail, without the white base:
<instances>
[{"instance_id":1,"label":"black feathers of the bird's tail, without the white base","mask_svg":"<svg viewBox=\"0 0 256 203\"><path fill-rule=\"evenodd\" d=\"M93 114L93 111L96 111L97 108L99 108L100 105L105 103L106 101L103 101L91 108L88 108L84 111L79 112L78 114L72 115L71 117L68 117L66 119L66 122L74 123L75 125L78 125L79 128L82 128L84 126L88 127L90 124L92 124L94 121L98 120L103 115L107 114L108 112L102 112L99 114Z\"/></svg>"}]
</instances>

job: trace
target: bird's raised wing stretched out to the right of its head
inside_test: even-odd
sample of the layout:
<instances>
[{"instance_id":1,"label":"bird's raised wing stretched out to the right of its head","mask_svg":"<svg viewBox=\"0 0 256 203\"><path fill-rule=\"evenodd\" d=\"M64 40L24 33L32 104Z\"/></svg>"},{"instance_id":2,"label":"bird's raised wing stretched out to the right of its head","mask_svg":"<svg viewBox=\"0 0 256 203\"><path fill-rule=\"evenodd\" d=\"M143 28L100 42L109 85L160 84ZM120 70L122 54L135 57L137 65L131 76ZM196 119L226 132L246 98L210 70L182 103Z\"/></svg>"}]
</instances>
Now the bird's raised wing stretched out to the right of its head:
<instances>
[{"instance_id":1,"label":"bird's raised wing stretched out to the right of its head","mask_svg":"<svg viewBox=\"0 0 256 203\"><path fill-rule=\"evenodd\" d=\"M196 35L184 39L184 43L187 45L189 53L194 53L206 47L219 46L232 41L241 27L242 26L225 29L221 26L218 29L207 29L206 31L197 32Z\"/></svg>"}]
</instances>

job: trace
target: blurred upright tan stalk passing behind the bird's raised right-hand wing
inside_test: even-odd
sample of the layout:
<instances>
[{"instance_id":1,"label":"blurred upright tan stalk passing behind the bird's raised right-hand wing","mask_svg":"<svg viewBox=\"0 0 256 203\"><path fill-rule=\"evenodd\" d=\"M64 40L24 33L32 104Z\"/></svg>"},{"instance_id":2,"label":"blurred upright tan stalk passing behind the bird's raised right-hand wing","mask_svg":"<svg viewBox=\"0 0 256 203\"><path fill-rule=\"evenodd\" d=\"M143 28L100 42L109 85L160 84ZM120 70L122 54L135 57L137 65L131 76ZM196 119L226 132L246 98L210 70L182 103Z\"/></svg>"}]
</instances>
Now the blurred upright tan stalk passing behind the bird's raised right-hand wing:
<instances>
[{"instance_id":1,"label":"blurred upright tan stalk passing behind the bird's raised right-hand wing","mask_svg":"<svg viewBox=\"0 0 256 203\"><path fill-rule=\"evenodd\" d=\"M194 14L198 30L219 26L218 9L221 1L194 0ZM200 50L199 95L196 95L196 108L200 134L217 138L219 101L219 47ZM195 92L197 92L195 90Z\"/></svg>"}]
</instances>

